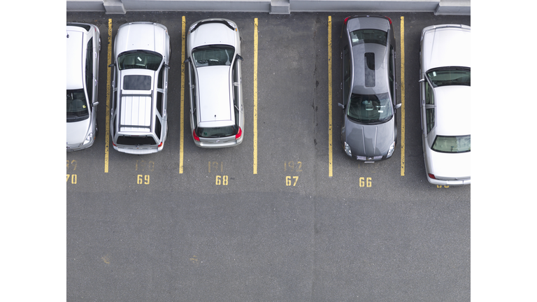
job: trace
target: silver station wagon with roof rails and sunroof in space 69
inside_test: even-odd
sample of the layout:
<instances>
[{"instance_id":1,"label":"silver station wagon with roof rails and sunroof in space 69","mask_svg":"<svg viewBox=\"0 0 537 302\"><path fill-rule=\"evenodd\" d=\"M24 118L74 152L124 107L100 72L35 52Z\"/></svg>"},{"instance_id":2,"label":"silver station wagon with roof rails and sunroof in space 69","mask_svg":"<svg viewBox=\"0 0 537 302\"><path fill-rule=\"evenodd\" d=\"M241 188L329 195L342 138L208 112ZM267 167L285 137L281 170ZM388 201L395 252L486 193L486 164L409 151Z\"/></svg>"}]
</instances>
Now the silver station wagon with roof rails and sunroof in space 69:
<instances>
[{"instance_id":1,"label":"silver station wagon with roof rails and sunroof in space 69","mask_svg":"<svg viewBox=\"0 0 537 302\"><path fill-rule=\"evenodd\" d=\"M117 29L110 110L113 148L149 154L164 148L168 133L170 37L162 24L131 22Z\"/></svg>"}]
</instances>

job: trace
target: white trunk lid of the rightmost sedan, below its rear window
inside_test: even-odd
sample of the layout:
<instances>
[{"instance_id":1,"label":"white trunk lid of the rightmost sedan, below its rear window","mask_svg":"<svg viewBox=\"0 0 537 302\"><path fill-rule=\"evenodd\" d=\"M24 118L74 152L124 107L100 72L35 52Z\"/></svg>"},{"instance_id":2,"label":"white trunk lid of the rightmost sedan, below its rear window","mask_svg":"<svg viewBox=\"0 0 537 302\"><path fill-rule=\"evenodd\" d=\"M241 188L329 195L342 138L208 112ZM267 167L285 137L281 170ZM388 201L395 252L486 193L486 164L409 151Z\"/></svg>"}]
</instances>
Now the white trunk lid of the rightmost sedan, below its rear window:
<instances>
[{"instance_id":1,"label":"white trunk lid of the rightmost sedan, below its rear window","mask_svg":"<svg viewBox=\"0 0 537 302\"><path fill-rule=\"evenodd\" d=\"M445 153L431 151L429 168L436 178L470 178L470 153Z\"/></svg>"}]
</instances>

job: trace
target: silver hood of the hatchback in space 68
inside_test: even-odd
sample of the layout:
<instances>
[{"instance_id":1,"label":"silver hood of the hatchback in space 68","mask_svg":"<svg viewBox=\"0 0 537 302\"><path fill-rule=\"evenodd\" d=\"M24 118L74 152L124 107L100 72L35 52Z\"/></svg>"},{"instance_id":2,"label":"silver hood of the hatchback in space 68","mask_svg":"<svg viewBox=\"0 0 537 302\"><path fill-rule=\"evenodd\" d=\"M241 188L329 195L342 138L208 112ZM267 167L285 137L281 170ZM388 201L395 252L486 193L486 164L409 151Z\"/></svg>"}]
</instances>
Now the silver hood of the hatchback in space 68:
<instances>
[{"instance_id":1,"label":"silver hood of the hatchback in space 68","mask_svg":"<svg viewBox=\"0 0 537 302\"><path fill-rule=\"evenodd\" d=\"M218 19L215 21L220 21ZM208 20L201 20L204 22ZM224 20L225 21L225 20ZM203 23L196 30L189 32L189 48L194 49L201 45L231 45L235 47L235 31L220 22Z\"/></svg>"}]
</instances>

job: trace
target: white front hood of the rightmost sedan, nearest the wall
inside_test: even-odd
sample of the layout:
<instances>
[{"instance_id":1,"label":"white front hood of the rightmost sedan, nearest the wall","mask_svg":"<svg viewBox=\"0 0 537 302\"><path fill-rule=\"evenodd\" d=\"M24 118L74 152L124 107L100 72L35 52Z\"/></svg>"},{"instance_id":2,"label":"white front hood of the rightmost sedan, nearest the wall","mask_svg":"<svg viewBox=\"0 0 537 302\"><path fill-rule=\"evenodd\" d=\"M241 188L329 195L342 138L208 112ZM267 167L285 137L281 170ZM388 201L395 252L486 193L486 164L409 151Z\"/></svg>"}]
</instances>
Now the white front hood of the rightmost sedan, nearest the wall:
<instances>
[{"instance_id":1,"label":"white front hood of the rightmost sedan, nearest the wall","mask_svg":"<svg viewBox=\"0 0 537 302\"><path fill-rule=\"evenodd\" d=\"M445 66L471 67L470 27L441 24L422 30L422 70Z\"/></svg>"}]
</instances>

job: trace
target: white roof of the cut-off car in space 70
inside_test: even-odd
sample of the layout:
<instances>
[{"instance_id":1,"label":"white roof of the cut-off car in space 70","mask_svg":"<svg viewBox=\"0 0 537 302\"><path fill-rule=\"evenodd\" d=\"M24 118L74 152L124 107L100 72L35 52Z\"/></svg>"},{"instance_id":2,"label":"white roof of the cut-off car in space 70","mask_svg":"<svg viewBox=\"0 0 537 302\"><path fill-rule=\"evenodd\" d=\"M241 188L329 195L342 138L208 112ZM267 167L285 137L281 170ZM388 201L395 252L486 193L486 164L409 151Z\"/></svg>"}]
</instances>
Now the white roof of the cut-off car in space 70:
<instances>
[{"instance_id":1,"label":"white roof of the cut-off car in space 70","mask_svg":"<svg viewBox=\"0 0 537 302\"><path fill-rule=\"evenodd\" d=\"M85 33L81 27L67 27L67 89L84 87Z\"/></svg>"}]
</instances>

